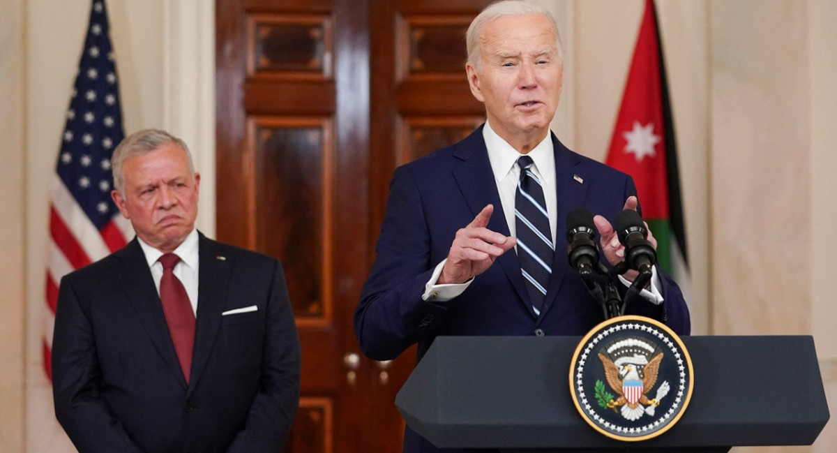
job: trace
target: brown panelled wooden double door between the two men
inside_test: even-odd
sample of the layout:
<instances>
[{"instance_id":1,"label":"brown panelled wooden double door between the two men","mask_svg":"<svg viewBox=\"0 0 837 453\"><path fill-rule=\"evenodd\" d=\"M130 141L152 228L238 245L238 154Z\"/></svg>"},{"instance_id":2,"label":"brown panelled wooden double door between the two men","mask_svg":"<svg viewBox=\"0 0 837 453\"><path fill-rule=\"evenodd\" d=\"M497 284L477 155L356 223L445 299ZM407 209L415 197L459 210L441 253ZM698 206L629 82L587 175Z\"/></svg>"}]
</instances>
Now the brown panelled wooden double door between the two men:
<instances>
[{"instance_id":1,"label":"brown panelled wooden double door between the two men","mask_svg":"<svg viewBox=\"0 0 837 453\"><path fill-rule=\"evenodd\" d=\"M394 167L484 121L464 33L487 3L216 1L218 239L285 265L302 342L287 451L401 449L415 353L362 357L352 315Z\"/></svg>"}]
</instances>

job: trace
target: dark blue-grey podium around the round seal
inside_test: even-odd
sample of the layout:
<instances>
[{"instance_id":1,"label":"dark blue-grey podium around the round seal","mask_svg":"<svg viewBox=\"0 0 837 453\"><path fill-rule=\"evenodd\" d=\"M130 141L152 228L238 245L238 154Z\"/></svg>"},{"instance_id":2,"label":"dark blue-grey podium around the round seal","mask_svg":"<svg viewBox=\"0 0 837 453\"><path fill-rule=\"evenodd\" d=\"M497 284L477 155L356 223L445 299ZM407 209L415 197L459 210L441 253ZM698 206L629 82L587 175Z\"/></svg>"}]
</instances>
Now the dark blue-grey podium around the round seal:
<instances>
[{"instance_id":1,"label":"dark blue-grey podium around the round seal","mask_svg":"<svg viewBox=\"0 0 837 453\"><path fill-rule=\"evenodd\" d=\"M653 439L610 439L583 420L570 394L580 339L437 337L395 404L438 447L510 452L810 445L829 420L812 337L681 337L695 381L682 418Z\"/></svg>"}]
</instances>

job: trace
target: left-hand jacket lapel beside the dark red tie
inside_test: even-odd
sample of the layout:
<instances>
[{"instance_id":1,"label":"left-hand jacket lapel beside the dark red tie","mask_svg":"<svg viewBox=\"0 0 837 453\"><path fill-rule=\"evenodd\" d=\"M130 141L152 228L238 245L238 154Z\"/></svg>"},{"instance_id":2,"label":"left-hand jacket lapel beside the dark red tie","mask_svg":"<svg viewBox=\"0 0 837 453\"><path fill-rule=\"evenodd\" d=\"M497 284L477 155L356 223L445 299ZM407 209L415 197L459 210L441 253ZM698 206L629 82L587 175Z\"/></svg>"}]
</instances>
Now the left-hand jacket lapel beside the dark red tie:
<instances>
[{"instance_id":1,"label":"left-hand jacket lapel beside the dark red tie","mask_svg":"<svg viewBox=\"0 0 837 453\"><path fill-rule=\"evenodd\" d=\"M151 278L146 255L142 252L138 239L134 238L128 245L114 254L119 261L114 265L116 278L125 289L125 296L131 301L142 327L151 338L157 353L172 373L177 376L181 384L186 386L186 379L177 361L172 336L168 332L166 315L162 311L160 296Z\"/></svg>"}]
</instances>

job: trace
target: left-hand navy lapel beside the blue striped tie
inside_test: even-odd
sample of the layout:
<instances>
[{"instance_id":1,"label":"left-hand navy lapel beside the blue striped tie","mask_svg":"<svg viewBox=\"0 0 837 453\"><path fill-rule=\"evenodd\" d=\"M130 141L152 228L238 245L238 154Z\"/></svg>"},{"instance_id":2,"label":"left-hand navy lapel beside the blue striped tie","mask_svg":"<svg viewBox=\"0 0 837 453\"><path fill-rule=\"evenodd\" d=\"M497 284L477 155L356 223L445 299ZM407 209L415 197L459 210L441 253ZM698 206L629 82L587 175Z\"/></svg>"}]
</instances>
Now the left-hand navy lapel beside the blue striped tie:
<instances>
[{"instance_id":1,"label":"left-hand navy lapel beside the blue striped tie","mask_svg":"<svg viewBox=\"0 0 837 453\"><path fill-rule=\"evenodd\" d=\"M497 192L497 184L494 181L494 172L491 171L491 162L488 159L488 150L485 148L485 140L482 138L482 127L477 128L470 136L460 142L454 157L463 162L453 170L454 179L459 185L462 196L471 211L471 217L480 214L482 208L487 204L494 205L494 214L488 221L488 229L508 236L509 225L506 224L506 215L503 212L503 204L500 201L500 193ZM462 225L465 226L465 225ZM521 275L520 260L514 250L497 258L503 272L506 273L515 288L520 301L531 311L529 295L526 293L526 286Z\"/></svg>"}]
</instances>

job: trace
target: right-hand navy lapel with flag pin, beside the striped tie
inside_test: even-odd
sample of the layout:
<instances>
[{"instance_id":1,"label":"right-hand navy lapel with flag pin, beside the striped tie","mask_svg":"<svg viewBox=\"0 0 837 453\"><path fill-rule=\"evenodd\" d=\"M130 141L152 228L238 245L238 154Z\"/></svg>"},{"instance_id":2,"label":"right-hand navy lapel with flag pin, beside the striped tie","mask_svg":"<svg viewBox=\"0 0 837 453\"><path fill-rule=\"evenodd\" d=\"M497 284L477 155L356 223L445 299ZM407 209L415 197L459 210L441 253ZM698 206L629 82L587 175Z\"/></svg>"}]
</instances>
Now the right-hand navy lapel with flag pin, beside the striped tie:
<instances>
[{"instance_id":1,"label":"right-hand navy lapel with flag pin, beside the striped tie","mask_svg":"<svg viewBox=\"0 0 837 453\"><path fill-rule=\"evenodd\" d=\"M554 134L552 134L552 147L555 153L555 189L557 191L555 254L552 257L552 278L549 281L539 321L553 305L564 277L568 273L567 246L569 243L567 242L567 225L563 224L563 219L567 219L567 214L574 208L584 206L588 191L588 181L585 175L579 172L578 157L564 147Z\"/></svg>"}]
</instances>

